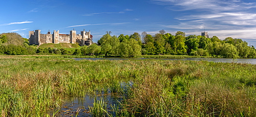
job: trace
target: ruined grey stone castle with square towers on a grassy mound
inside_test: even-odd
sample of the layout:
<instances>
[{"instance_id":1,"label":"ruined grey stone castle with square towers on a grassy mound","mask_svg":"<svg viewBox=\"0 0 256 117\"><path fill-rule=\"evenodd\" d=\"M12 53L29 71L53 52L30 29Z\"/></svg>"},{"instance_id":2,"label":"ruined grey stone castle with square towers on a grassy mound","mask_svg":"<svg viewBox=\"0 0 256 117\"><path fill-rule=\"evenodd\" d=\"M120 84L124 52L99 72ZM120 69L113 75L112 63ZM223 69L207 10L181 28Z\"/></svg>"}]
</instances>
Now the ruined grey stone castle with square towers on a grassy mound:
<instances>
[{"instance_id":1,"label":"ruined grey stone castle with square towers on a grassy mound","mask_svg":"<svg viewBox=\"0 0 256 117\"><path fill-rule=\"evenodd\" d=\"M70 34L59 34L59 31L53 31L51 34L41 34L40 30L29 31L29 44L41 45L44 43L78 43L80 46L92 44L91 32L81 31L81 34L76 34L75 30L70 31Z\"/></svg>"}]
</instances>

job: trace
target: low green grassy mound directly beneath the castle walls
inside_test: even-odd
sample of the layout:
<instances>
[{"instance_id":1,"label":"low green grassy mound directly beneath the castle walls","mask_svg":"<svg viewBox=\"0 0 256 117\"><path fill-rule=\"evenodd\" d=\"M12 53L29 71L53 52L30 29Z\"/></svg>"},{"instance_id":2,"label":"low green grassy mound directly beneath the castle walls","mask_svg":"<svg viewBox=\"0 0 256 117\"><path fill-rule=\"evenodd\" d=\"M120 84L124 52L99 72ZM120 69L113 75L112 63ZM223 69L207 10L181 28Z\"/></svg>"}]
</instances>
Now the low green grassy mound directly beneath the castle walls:
<instances>
[{"instance_id":1,"label":"low green grassy mound directly beneath the castle walls","mask_svg":"<svg viewBox=\"0 0 256 117\"><path fill-rule=\"evenodd\" d=\"M43 48L79 48L80 46L78 44L73 44L73 43L58 43L58 44L54 44L54 43L44 43L41 44L40 47Z\"/></svg>"}]
</instances>

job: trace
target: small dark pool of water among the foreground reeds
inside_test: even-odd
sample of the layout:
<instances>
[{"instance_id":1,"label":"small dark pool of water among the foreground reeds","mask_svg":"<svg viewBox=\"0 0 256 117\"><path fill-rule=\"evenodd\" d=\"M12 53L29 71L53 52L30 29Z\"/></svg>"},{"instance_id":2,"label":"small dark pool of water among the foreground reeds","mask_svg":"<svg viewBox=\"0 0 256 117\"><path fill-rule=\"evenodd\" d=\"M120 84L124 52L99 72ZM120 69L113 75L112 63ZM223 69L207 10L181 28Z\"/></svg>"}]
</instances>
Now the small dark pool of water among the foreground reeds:
<instances>
[{"instance_id":1,"label":"small dark pool of water among the foreground reeds","mask_svg":"<svg viewBox=\"0 0 256 117\"><path fill-rule=\"evenodd\" d=\"M91 116L89 107L93 106L94 100L104 101L106 104L106 110L111 113L112 106L118 106L122 101L122 97L113 93L96 93L95 96L86 95L84 97L67 97L63 100L65 103L61 105L61 108L55 108L49 113L53 115L58 111L55 116ZM115 113L111 113L115 114Z\"/></svg>"}]
</instances>

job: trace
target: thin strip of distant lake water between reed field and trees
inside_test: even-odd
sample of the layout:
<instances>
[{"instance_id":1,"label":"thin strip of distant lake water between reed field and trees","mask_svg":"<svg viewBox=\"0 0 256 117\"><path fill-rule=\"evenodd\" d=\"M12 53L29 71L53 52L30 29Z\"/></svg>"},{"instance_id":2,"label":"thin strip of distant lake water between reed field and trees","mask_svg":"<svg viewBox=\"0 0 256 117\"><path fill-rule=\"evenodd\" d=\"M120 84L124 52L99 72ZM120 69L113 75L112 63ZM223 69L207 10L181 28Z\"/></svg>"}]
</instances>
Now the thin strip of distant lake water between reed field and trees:
<instances>
[{"instance_id":1,"label":"thin strip of distant lake water between reed field and trees","mask_svg":"<svg viewBox=\"0 0 256 117\"><path fill-rule=\"evenodd\" d=\"M231 58L73 58L75 60L143 60L143 59L160 59L160 60L205 60L212 62L234 62L234 63L249 63L256 64L256 59L231 59Z\"/></svg>"}]
</instances>

